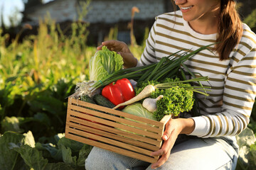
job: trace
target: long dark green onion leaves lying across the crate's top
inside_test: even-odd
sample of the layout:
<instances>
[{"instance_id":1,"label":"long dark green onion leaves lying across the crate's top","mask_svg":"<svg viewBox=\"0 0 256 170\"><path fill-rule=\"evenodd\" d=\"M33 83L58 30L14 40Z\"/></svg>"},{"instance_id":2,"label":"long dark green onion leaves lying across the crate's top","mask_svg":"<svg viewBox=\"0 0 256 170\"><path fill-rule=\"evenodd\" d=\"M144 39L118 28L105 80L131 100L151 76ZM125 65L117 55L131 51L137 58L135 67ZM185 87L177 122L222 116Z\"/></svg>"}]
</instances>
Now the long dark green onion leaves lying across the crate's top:
<instances>
[{"instance_id":1,"label":"long dark green onion leaves lying across the crate's top","mask_svg":"<svg viewBox=\"0 0 256 170\"><path fill-rule=\"evenodd\" d=\"M198 81L200 86L203 88L203 85L200 83L200 81L206 81L207 78L206 77L196 78L196 76L188 70L188 68L185 66L185 64L183 64L183 62L185 62L186 60L189 60L198 52L201 52L201 50L206 50L207 47L209 46L210 45L200 47L198 48L198 50L195 50L190 53L183 52L181 53L181 55L178 55L178 52L182 51L182 50L179 50L178 52L175 52L172 55L169 55L167 57L162 57L159 62L148 64L142 67L132 67L128 69L119 70L118 72L114 72L113 74L110 74L105 79L95 82L95 84L93 84L89 90L95 91L95 89L98 89L101 86L106 86L107 84L110 84L113 81L117 81L118 79L123 79L123 78L134 79L139 83L140 81L158 80L158 79L165 79L167 77L169 78L175 77L178 74L178 71L180 71L181 74L184 73L183 70L181 71L181 69L186 69L186 72L188 72L188 74L191 74L191 76L194 78L194 79L188 80L188 82ZM185 78L184 75L183 75L183 78ZM167 84L162 84L161 86L165 86L165 85ZM201 92L201 94L202 93L203 92ZM206 93L203 93L203 94L206 94Z\"/></svg>"}]
</instances>

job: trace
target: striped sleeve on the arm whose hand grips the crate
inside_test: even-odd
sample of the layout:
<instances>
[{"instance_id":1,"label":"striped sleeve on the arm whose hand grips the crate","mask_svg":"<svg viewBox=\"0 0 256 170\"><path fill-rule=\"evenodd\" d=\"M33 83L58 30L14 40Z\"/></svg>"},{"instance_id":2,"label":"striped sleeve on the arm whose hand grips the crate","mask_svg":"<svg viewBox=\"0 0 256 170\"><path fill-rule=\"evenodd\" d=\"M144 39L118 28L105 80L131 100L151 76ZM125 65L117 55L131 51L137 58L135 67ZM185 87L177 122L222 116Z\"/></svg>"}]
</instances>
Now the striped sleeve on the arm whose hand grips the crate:
<instances>
[{"instance_id":1,"label":"striped sleeve on the arm whose hand grips the crate","mask_svg":"<svg viewBox=\"0 0 256 170\"><path fill-rule=\"evenodd\" d=\"M256 47L247 54L237 53L243 57L234 60L225 76L222 111L193 118L196 126L190 135L235 136L247 127L255 103Z\"/></svg>"}]
</instances>

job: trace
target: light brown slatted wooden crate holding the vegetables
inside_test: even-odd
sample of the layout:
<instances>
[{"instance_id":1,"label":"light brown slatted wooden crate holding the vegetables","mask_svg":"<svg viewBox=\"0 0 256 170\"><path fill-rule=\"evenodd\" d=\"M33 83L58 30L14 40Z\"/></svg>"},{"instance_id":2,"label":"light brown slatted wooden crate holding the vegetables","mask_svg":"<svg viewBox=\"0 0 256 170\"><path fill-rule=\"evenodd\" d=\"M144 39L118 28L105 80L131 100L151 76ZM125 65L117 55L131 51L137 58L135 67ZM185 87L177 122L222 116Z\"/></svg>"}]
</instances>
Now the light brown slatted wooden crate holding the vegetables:
<instances>
[{"instance_id":1,"label":"light brown slatted wooden crate holding the vegetables","mask_svg":"<svg viewBox=\"0 0 256 170\"><path fill-rule=\"evenodd\" d=\"M159 157L150 154L161 147L161 136L169 118L166 115L158 122L68 98L65 137L154 163Z\"/></svg>"}]
</instances>

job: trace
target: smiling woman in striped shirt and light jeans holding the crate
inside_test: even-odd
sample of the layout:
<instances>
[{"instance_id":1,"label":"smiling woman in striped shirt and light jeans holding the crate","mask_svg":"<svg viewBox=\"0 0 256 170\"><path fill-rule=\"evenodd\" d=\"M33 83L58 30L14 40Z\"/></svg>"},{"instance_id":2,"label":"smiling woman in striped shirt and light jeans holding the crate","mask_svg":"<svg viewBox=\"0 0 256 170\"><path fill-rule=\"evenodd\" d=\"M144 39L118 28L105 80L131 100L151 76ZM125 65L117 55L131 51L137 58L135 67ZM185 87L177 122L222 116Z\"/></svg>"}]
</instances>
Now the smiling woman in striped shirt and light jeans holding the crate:
<instances>
[{"instance_id":1,"label":"smiling woman in striped shirt and light jeans holding the crate","mask_svg":"<svg viewBox=\"0 0 256 170\"><path fill-rule=\"evenodd\" d=\"M212 89L198 95L201 115L177 118L166 124L164 145L150 164L94 147L85 162L90 169L235 169L238 145L235 135L249 123L256 94L256 36L241 23L234 0L176 0L180 11L157 16L137 62L124 42L106 41L119 52L124 67L159 62L184 48L196 50L212 45L186 65L192 72L208 76ZM101 49L102 45L98 47ZM208 84L206 84L208 85ZM186 140L178 143L182 134Z\"/></svg>"}]
</instances>

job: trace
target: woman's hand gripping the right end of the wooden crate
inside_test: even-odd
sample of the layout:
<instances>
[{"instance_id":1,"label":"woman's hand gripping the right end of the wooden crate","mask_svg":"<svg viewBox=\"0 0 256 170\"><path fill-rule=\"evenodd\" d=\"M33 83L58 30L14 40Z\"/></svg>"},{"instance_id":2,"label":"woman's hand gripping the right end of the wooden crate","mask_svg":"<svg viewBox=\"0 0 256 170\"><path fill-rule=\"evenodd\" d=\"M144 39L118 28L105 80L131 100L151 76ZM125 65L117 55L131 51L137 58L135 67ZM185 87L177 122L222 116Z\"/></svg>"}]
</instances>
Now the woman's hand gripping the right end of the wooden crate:
<instances>
[{"instance_id":1,"label":"woman's hand gripping the right end of the wooden crate","mask_svg":"<svg viewBox=\"0 0 256 170\"><path fill-rule=\"evenodd\" d=\"M191 118L170 119L168 123L166 123L165 128L166 130L164 130L164 135L162 136L164 144L162 145L161 149L151 153L151 156L153 157L160 156L158 162L151 165L152 169L158 168L167 161L178 135L190 134L191 132L193 132L193 129L195 128L195 123Z\"/></svg>"}]
</instances>

